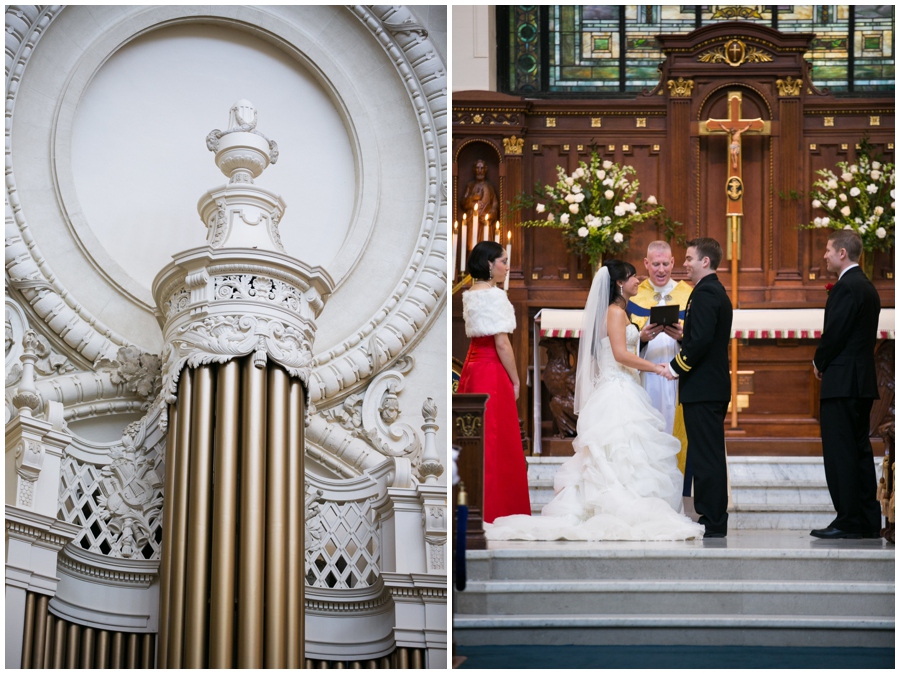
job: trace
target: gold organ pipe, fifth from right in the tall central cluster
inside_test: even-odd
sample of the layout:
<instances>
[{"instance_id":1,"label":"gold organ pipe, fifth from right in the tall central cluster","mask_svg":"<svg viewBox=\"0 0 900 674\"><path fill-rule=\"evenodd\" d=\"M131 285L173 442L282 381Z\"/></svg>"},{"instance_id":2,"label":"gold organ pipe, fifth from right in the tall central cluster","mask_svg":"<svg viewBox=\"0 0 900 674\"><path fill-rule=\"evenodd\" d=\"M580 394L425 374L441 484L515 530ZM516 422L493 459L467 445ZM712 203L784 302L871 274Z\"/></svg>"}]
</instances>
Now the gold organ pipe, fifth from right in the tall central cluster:
<instances>
[{"instance_id":1,"label":"gold organ pipe, fifth from right in the tall central cluster","mask_svg":"<svg viewBox=\"0 0 900 674\"><path fill-rule=\"evenodd\" d=\"M194 370L191 396L191 459L188 488L183 666L204 667L209 596L210 490L212 473L213 379L209 365Z\"/></svg>"}]
</instances>

